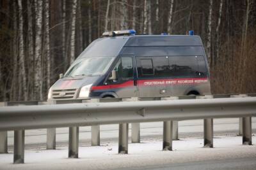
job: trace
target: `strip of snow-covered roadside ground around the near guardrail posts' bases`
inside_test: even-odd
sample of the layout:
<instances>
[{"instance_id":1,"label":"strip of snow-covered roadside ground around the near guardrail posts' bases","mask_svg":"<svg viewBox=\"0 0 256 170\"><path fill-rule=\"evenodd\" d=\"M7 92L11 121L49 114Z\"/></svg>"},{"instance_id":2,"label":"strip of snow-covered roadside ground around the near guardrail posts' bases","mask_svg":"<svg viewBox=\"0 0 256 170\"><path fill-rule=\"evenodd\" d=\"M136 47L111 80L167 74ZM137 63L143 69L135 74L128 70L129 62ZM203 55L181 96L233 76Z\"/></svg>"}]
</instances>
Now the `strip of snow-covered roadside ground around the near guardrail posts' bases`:
<instances>
[{"instance_id":1,"label":"strip of snow-covered roadside ground around the near guardrail posts' bases","mask_svg":"<svg viewBox=\"0 0 256 170\"><path fill-rule=\"evenodd\" d=\"M203 138L182 138L173 141L173 151L162 151L162 139L147 138L142 143L129 143L129 154L118 155L118 143L102 146L80 146L79 159L68 159L68 148L26 150L25 164L12 164L13 153L0 155L0 169L144 169L208 160L252 159L256 157L256 136L253 145L241 145L240 136L215 136L214 148L202 148Z\"/></svg>"}]
</instances>

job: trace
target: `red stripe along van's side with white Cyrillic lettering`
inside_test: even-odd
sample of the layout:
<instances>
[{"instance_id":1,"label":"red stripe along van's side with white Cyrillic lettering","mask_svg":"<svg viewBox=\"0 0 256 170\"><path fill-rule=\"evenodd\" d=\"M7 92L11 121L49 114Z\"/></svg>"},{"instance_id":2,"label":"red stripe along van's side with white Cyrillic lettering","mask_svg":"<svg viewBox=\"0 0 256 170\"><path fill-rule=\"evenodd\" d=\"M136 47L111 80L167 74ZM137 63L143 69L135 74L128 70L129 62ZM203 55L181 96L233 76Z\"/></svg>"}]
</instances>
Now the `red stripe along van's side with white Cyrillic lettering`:
<instances>
[{"instance_id":1,"label":"red stripe along van's side with white Cyrillic lettering","mask_svg":"<svg viewBox=\"0 0 256 170\"><path fill-rule=\"evenodd\" d=\"M138 80L139 86L156 86L156 85L184 85L184 84L196 84L206 83L207 78L173 78L173 79L152 79L152 80ZM106 90L106 89L118 89L134 86L133 80L126 81L118 85L100 85L93 86L91 90Z\"/></svg>"}]
</instances>

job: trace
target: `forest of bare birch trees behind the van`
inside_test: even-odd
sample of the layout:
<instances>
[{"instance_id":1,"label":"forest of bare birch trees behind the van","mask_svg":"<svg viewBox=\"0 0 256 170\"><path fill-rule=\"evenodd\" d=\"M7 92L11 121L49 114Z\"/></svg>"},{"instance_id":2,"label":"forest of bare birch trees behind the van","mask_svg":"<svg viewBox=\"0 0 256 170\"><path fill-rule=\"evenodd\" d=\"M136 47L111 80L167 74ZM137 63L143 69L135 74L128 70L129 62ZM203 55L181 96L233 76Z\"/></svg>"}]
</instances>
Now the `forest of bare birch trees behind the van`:
<instances>
[{"instance_id":1,"label":"forest of bare birch trees behind the van","mask_svg":"<svg viewBox=\"0 0 256 170\"><path fill-rule=\"evenodd\" d=\"M256 92L255 0L1 0L0 101L47 98L104 31L201 36L212 94Z\"/></svg>"}]
</instances>

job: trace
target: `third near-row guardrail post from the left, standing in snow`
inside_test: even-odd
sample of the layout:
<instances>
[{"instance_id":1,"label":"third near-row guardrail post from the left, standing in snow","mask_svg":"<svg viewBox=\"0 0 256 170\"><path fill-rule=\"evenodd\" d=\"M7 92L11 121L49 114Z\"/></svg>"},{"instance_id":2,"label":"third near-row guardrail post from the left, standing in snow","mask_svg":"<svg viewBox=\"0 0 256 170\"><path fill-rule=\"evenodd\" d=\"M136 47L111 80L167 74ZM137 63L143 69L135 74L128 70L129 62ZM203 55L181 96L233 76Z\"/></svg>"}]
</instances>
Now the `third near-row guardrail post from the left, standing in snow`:
<instances>
[{"instance_id":1,"label":"third near-row guardrail post from the left, standing in snow","mask_svg":"<svg viewBox=\"0 0 256 170\"><path fill-rule=\"evenodd\" d=\"M129 124L119 124L118 153L128 153Z\"/></svg>"}]
</instances>

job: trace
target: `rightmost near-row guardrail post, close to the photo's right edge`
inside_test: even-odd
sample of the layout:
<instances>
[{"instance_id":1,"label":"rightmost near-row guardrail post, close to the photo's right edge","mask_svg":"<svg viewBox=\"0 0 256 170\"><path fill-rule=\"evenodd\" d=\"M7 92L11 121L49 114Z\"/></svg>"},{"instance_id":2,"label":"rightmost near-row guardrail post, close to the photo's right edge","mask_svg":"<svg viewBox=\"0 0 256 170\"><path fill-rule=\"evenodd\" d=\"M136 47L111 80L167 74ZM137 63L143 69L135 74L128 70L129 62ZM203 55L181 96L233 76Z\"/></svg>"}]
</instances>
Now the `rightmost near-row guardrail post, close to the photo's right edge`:
<instances>
[{"instance_id":1,"label":"rightmost near-row guardrail post, close to the photo's right edge","mask_svg":"<svg viewBox=\"0 0 256 170\"><path fill-rule=\"evenodd\" d=\"M252 117L243 117L243 145L252 145Z\"/></svg>"}]
</instances>

